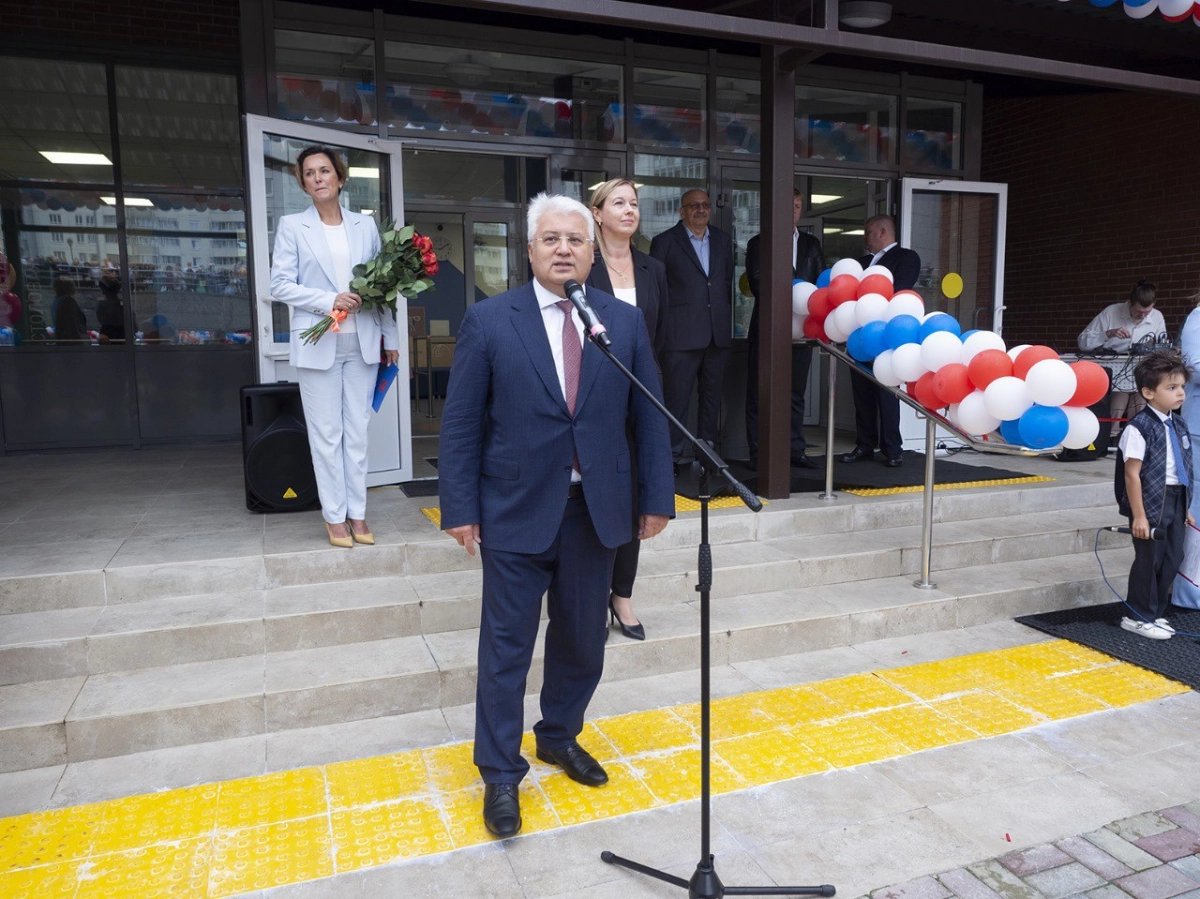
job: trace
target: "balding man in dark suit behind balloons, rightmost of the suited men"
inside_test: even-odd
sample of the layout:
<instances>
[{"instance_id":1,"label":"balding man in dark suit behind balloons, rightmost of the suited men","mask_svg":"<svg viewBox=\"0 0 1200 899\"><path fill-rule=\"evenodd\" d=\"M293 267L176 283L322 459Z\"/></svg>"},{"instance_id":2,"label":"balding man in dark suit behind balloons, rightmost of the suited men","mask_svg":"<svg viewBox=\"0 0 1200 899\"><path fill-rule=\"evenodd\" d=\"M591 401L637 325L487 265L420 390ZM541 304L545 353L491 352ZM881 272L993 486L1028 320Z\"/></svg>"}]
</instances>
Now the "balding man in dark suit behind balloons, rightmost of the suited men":
<instances>
[{"instance_id":1,"label":"balding man in dark suit behind balloons, rightmost of the suited men","mask_svg":"<svg viewBox=\"0 0 1200 899\"><path fill-rule=\"evenodd\" d=\"M877 215L863 226L866 256L859 262L882 265L892 272L892 287L907 290L920 275L920 257L896 242L896 223L889 215ZM850 385L854 391L854 449L838 456L839 462L860 462L875 455L878 446L883 465L899 468L904 463L900 437L900 401L887 388L868 380L851 368Z\"/></svg>"}]
</instances>

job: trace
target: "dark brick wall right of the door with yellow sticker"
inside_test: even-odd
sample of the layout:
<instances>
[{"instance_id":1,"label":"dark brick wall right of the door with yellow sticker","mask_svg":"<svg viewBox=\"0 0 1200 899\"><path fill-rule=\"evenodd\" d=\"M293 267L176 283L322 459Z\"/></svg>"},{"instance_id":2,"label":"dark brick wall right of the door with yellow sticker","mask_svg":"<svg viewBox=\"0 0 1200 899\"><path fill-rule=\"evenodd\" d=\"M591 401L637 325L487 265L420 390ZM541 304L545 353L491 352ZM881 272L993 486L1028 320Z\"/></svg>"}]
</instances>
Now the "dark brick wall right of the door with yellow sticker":
<instances>
[{"instance_id":1,"label":"dark brick wall right of the door with yellow sticker","mask_svg":"<svg viewBox=\"0 0 1200 899\"><path fill-rule=\"evenodd\" d=\"M1074 349L1142 277L1176 337L1200 289L1198 163L1196 100L986 101L983 178L1009 186L1006 341Z\"/></svg>"}]
</instances>

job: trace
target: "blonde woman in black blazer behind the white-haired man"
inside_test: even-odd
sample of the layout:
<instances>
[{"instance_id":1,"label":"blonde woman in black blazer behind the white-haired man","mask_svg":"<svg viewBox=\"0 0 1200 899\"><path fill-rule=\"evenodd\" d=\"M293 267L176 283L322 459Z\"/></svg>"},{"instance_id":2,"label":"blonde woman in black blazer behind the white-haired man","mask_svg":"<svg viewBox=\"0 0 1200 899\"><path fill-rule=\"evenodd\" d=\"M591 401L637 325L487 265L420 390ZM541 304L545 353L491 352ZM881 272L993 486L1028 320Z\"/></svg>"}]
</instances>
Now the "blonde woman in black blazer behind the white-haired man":
<instances>
[{"instance_id":1,"label":"blonde woman in black blazer behind the white-haired man","mask_svg":"<svg viewBox=\"0 0 1200 899\"><path fill-rule=\"evenodd\" d=\"M650 346L658 360L665 336L667 313L667 270L634 246L634 235L642 217L637 208L637 186L628 178L614 178L592 192L592 215L596 222L596 250L588 286L612 294L618 300L637 306L646 318ZM661 366L660 366L661 376ZM637 490L637 477L634 477ZM634 498L637 509L637 498ZM617 550L608 595L610 621L632 640L646 640L646 628L634 615L634 580L637 577L638 540L635 522L634 539Z\"/></svg>"}]
</instances>

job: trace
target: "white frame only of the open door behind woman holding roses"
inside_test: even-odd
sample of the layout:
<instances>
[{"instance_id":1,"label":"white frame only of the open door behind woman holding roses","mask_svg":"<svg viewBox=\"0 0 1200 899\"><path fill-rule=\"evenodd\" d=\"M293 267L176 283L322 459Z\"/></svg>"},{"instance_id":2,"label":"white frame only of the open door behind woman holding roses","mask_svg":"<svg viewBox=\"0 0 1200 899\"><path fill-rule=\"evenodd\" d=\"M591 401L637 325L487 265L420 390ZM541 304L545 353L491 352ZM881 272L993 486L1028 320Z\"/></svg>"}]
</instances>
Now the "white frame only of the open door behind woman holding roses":
<instances>
[{"instance_id":1,"label":"white frame only of the open door behind woman holding roses","mask_svg":"<svg viewBox=\"0 0 1200 899\"><path fill-rule=\"evenodd\" d=\"M379 154L388 158L389 208L383 217L397 224L404 221L403 173L401 169L401 142L384 140L366 134L356 134L317 125L304 125L271 119L263 115L246 115L246 173L250 185L247 196L250 256L254 271L254 334L260 383L295 380L295 370L288 361L289 343L275 341L271 314L271 265L266 227L266 167L263 163L263 139L266 134L306 140L313 144L330 144ZM378 413L372 413L367 449L367 486L400 484L413 479L413 421L409 402L408 314L407 301L396 304L396 323L401 330L401 376L388 391Z\"/></svg>"}]
</instances>

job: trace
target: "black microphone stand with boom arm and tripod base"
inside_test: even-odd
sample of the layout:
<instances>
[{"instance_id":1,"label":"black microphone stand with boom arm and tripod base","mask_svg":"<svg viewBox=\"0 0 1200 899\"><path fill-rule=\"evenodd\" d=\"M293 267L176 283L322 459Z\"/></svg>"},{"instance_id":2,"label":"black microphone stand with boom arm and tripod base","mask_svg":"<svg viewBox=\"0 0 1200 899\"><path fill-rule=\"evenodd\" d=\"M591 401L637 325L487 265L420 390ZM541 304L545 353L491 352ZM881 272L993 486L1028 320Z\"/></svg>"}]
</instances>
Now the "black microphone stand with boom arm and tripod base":
<instances>
[{"instance_id":1,"label":"black microphone stand with boom arm and tripod base","mask_svg":"<svg viewBox=\"0 0 1200 899\"><path fill-rule=\"evenodd\" d=\"M600 853L600 859L608 864L628 868L631 871L644 874L648 877L665 881L673 886L688 891L689 899L721 899L725 895L833 895L834 888L829 883L817 887L727 887L716 874L716 859L710 851L712 829L712 690L709 682L710 647L709 647L709 597L713 586L713 551L708 544L708 502L712 498L708 491L709 475L720 474L728 481L730 487L738 498L751 511L762 510L762 501L758 499L742 481L733 477L730 466L722 460L707 442L698 439L662 404L654 392L646 386L637 376L626 368L612 350L605 346L605 341L596 338L594 329L584 329L588 340L604 353L608 361L616 365L629 383L637 388L642 396L650 401L667 421L678 427L697 451L697 461L701 463L700 474L700 558L697 565L696 592L700 593L700 862L691 875L691 880L676 877L658 868L632 862L628 858L616 856L608 850ZM604 331L599 331L604 335ZM607 336L607 335L605 335Z\"/></svg>"}]
</instances>

